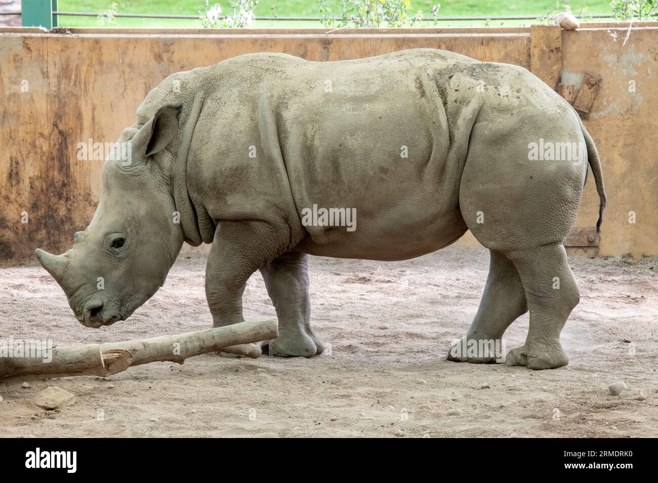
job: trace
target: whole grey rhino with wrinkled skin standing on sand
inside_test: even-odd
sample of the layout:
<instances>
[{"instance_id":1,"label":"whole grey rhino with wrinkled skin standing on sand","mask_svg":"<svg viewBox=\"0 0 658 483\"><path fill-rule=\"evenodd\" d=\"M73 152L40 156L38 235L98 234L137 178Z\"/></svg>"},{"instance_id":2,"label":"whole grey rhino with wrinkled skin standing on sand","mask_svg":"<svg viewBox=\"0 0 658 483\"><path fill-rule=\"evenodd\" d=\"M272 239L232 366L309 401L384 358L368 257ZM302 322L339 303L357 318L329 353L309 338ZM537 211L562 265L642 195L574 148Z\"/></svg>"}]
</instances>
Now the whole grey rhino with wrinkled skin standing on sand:
<instances>
[{"instance_id":1,"label":"whole grey rhino with wrinkled skin standing on sand","mask_svg":"<svg viewBox=\"0 0 658 483\"><path fill-rule=\"evenodd\" d=\"M505 363L559 367L568 362L559 336L579 298L563 241L588 163L528 160L540 138L586 143L602 210L592 139L523 68L434 49L340 62L243 55L153 89L119 139L132 142L132 163L105 162L89 227L66 254L37 255L78 320L100 327L163 285L184 241L212 243L214 325L243 320L245 282L260 270L280 333L264 350L309 357L324 345L309 322L307 254L405 260L470 229L491 265L465 337L500 339L530 310L526 343ZM313 204L356 208L357 229L303 226Z\"/></svg>"}]
</instances>

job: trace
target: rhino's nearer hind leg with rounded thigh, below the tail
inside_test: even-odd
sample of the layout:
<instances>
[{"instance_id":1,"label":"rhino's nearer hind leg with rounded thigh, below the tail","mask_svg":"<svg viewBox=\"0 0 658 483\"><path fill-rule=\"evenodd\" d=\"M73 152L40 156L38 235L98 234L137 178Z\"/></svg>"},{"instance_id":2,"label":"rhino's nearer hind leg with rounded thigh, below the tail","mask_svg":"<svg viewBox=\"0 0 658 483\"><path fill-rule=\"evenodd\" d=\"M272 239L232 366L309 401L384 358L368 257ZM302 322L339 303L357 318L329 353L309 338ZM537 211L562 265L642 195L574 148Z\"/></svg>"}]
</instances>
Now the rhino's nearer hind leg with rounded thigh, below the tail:
<instances>
[{"instance_id":1,"label":"rhino's nearer hind leg with rounded thigh, below the tail","mask_svg":"<svg viewBox=\"0 0 658 483\"><path fill-rule=\"evenodd\" d=\"M532 143L542 140L582 143L578 116L557 101L551 107L551 94L505 116L483 116L471 133L459 189L468 229L519 273L530 326L526 343L511 350L505 364L530 369L569 363L560 333L579 300L563 242L578 214L587 162L562 154L542 161L530 154Z\"/></svg>"}]
</instances>

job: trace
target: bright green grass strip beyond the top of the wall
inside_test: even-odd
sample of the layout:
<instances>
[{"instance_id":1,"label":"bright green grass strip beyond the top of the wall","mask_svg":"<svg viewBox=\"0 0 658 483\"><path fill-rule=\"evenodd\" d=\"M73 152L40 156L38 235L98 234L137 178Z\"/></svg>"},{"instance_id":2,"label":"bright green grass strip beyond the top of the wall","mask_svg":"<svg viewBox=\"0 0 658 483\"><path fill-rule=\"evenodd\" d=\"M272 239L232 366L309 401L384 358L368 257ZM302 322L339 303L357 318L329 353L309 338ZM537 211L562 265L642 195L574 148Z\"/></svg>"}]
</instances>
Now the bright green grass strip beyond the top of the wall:
<instances>
[{"instance_id":1,"label":"bright green grass strip beyond the top of the wall","mask_svg":"<svg viewBox=\"0 0 658 483\"><path fill-rule=\"evenodd\" d=\"M196 15L205 5L204 0L114 0L119 13L145 14L181 14ZM63 12L101 12L110 7L112 0L59 0L59 11ZM210 0L211 5L219 3L224 12L230 12L227 0ZM544 16L557 11L555 0L411 0L411 12L422 11L428 14L432 5L440 3L439 16ZM584 9L586 14L607 14L611 12L609 0L572 0L561 2L570 5L571 11L578 14ZM256 7L257 16L319 16L316 0L261 0ZM115 18L113 27L149 27L149 28L195 28L201 27L198 20ZM492 26L530 25L532 20L505 20L490 22ZM60 26L95 27L96 17L60 16ZM484 22L461 21L439 22L438 26L481 26ZM254 27L290 28L320 27L320 22L301 22L278 20L259 20ZM431 26L431 25L430 25Z\"/></svg>"}]
</instances>

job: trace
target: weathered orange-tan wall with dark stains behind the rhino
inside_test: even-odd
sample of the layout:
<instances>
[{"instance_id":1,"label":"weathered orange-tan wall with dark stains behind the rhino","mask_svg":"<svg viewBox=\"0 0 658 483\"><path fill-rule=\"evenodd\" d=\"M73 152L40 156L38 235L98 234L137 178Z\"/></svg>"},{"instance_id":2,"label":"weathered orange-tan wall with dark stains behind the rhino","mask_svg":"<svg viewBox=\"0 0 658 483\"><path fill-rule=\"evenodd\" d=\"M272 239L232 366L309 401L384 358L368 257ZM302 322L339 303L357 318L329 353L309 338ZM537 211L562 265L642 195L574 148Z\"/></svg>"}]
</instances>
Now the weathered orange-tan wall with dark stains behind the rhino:
<instances>
[{"instance_id":1,"label":"weathered orange-tan wall with dark stains behind the rhino","mask_svg":"<svg viewBox=\"0 0 658 483\"><path fill-rule=\"evenodd\" d=\"M559 48L542 53L537 39L533 48L536 32L531 35L529 28L332 34L0 29L0 264L28 260L37 246L57 253L70 247L73 233L88 225L101 188L102 160L78 160L78 143L89 138L116 141L134 122L145 95L168 74L261 51L338 60L415 47L526 68L534 55L532 65L540 70L557 58L569 80L578 81L586 70L601 75L601 92L586 122L603 160L609 193L600 252L658 254L658 168L652 150L658 92L651 89L658 72L658 25L633 30L626 45L626 30L619 25L594 26L563 31L561 57ZM616 40L611 33L618 35ZM545 62L538 62L544 55ZM634 93L628 91L629 80L636 82ZM576 225L593 227L597 207L589 181ZM636 213L637 223L628 223L629 211ZM24 213L29 223L22 223ZM468 236L461 242L474 243Z\"/></svg>"}]
</instances>

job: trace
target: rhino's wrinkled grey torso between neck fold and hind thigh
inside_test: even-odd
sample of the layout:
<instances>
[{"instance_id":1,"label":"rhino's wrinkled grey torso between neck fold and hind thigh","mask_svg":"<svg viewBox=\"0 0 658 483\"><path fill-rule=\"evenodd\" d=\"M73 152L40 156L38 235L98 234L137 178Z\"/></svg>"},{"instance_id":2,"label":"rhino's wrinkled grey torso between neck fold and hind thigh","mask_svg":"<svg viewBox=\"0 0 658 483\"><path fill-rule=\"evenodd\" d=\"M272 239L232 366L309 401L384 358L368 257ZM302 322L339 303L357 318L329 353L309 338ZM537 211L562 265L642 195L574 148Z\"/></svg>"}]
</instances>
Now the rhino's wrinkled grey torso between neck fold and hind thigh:
<instances>
[{"instance_id":1,"label":"rhino's wrinkled grey torso between neck fold and hind thigh","mask_svg":"<svg viewBox=\"0 0 658 483\"><path fill-rule=\"evenodd\" d=\"M415 49L340 62L246 55L207 68L214 87L188 160L191 195L215 220L283 214L295 233L309 233L309 251L334 250L347 236L344 227L301 227L314 204L357 210L355 252L340 256L378 249L381 233L398 242L414 233L397 258L436 250L465 230L455 180L445 175L451 134L441 79L474 62Z\"/></svg>"}]
</instances>

